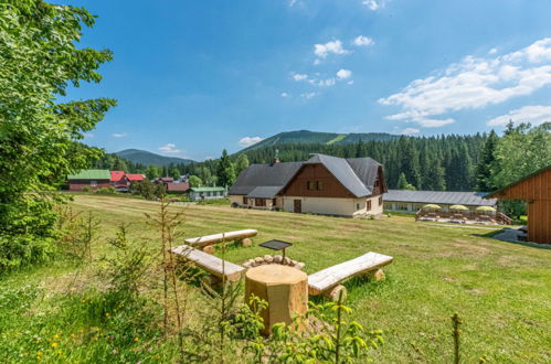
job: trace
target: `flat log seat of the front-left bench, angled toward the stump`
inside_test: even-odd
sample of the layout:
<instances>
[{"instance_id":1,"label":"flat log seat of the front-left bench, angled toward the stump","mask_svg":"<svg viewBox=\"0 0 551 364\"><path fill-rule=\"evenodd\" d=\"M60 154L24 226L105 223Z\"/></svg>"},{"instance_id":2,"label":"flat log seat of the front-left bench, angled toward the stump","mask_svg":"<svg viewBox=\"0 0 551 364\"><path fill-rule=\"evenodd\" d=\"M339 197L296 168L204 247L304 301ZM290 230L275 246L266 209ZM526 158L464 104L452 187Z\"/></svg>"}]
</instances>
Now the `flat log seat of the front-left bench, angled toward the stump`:
<instances>
[{"instance_id":1,"label":"flat log seat of the front-left bench, angled toward the stump","mask_svg":"<svg viewBox=\"0 0 551 364\"><path fill-rule=\"evenodd\" d=\"M187 245L172 248L172 253L193 261L202 269L219 278L222 278L222 272L224 272L225 278L230 281L240 280L241 274L245 271L245 268L242 266L227 260L222 260L219 257L194 249ZM224 266L223 269L222 265Z\"/></svg>"}]
</instances>

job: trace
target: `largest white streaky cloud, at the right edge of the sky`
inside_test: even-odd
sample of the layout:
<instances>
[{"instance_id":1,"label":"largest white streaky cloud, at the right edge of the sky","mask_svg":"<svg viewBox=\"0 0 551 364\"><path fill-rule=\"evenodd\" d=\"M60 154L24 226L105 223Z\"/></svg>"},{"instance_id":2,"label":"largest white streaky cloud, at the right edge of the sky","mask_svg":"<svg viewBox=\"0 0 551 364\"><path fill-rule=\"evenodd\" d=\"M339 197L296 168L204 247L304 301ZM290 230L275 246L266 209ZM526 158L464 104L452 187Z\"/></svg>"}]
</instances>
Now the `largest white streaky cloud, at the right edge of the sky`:
<instances>
[{"instance_id":1,"label":"largest white streaky cloud, at the right edge of the sky","mask_svg":"<svg viewBox=\"0 0 551 364\"><path fill-rule=\"evenodd\" d=\"M455 120L433 117L504 103L550 84L551 38L548 38L494 58L466 56L434 75L413 81L379 103L401 107L401 113L388 119L436 127Z\"/></svg>"}]
</instances>

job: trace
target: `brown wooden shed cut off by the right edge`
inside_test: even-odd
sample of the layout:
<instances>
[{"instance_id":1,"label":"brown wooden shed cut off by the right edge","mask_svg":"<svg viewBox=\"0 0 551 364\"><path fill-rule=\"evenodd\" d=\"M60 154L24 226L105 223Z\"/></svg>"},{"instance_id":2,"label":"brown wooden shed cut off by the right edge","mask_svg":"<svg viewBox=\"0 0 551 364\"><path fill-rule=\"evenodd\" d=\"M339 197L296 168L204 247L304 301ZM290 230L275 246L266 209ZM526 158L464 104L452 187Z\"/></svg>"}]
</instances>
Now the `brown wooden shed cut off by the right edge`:
<instances>
[{"instance_id":1,"label":"brown wooden shed cut off by the right edge","mask_svg":"<svg viewBox=\"0 0 551 364\"><path fill-rule=\"evenodd\" d=\"M551 244L551 165L492 192L487 197L526 201L528 240Z\"/></svg>"}]
</instances>

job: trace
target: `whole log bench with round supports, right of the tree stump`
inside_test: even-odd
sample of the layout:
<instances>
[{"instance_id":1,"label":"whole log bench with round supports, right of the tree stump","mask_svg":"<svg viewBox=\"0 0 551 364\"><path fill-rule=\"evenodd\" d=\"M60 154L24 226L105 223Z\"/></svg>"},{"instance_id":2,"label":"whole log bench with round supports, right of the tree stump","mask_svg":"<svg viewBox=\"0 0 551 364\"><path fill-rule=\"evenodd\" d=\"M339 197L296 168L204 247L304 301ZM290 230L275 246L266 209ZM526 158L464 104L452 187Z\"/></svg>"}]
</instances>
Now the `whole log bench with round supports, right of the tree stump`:
<instances>
[{"instance_id":1,"label":"whole log bench with round supports, right of the tree stump","mask_svg":"<svg viewBox=\"0 0 551 364\"><path fill-rule=\"evenodd\" d=\"M388 255L370 251L358 258L315 272L308 276L308 293L310 296L324 295L336 301L342 291L342 298L346 299L347 289L340 285L342 281L365 274L371 275L375 280L384 279L384 272L380 268L391 264L392 259Z\"/></svg>"}]
</instances>

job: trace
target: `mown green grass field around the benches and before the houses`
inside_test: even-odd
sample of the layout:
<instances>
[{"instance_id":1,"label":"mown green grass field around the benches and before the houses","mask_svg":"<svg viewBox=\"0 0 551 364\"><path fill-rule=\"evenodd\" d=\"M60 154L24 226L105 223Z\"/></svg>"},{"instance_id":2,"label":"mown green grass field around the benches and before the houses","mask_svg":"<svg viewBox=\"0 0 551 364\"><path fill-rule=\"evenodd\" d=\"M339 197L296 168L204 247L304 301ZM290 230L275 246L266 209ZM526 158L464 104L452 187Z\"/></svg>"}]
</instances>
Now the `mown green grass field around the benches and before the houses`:
<instances>
[{"instance_id":1,"label":"mown green grass field around the benches and before the houses","mask_svg":"<svg viewBox=\"0 0 551 364\"><path fill-rule=\"evenodd\" d=\"M155 213L158 205L94 195L77 195L73 202L76 210L94 211L100 217L103 242L113 237L117 224L129 222L131 235L152 246L157 246L157 233L145 223L144 213ZM385 268L386 280L348 283L348 304L356 319L369 329L384 331L385 344L373 352L375 362L452 362L449 317L454 312L464 322L465 363L481 357L496 363L551 361L550 249L480 236L492 232L487 228L426 225L403 216L369 221L216 205L171 208L184 212L186 237L256 228L255 243L272 238L292 242L287 255L306 263L309 274L367 251L393 256L394 263ZM108 245L100 243L94 251L108 250ZM267 253L258 246L235 247L226 258L243 263ZM56 289L74 269L50 265L12 274L0 281L0 288L35 283ZM49 308L47 314L56 314L56 304L63 302L54 295L40 299L40 307Z\"/></svg>"}]
</instances>

